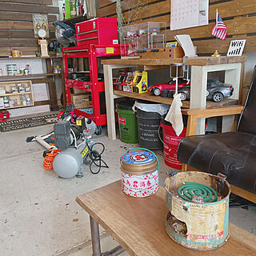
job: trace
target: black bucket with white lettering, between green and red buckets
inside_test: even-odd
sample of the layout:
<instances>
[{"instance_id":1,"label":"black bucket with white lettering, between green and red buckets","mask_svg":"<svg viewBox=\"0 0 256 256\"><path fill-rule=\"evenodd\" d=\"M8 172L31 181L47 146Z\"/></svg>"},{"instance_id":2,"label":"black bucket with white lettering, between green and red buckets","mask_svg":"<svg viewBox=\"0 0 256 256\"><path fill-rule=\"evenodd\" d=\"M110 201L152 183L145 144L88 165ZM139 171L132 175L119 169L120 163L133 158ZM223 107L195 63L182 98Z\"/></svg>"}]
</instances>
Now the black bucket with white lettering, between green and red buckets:
<instances>
[{"instance_id":1,"label":"black bucket with white lettering, between green and red buckets","mask_svg":"<svg viewBox=\"0 0 256 256\"><path fill-rule=\"evenodd\" d=\"M157 112L146 112L137 109L138 144L150 150L162 149L158 135L161 115Z\"/></svg>"}]
</instances>

